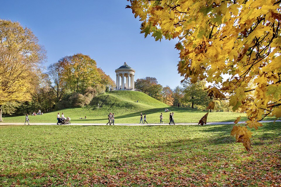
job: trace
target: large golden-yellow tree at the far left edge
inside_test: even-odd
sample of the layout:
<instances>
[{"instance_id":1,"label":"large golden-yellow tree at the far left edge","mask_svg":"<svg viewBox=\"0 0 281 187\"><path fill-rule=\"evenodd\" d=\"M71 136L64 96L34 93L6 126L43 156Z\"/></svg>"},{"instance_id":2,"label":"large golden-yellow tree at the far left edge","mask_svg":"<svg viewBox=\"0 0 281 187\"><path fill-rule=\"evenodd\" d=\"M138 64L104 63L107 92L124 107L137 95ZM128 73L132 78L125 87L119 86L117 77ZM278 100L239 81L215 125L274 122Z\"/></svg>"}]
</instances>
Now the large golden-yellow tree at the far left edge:
<instances>
[{"instance_id":1,"label":"large golden-yellow tree at the far left edge","mask_svg":"<svg viewBox=\"0 0 281 187\"><path fill-rule=\"evenodd\" d=\"M20 23L0 20L0 121L2 105L31 99L39 84L38 65L45 50L37 37Z\"/></svg>"}]
</instances>

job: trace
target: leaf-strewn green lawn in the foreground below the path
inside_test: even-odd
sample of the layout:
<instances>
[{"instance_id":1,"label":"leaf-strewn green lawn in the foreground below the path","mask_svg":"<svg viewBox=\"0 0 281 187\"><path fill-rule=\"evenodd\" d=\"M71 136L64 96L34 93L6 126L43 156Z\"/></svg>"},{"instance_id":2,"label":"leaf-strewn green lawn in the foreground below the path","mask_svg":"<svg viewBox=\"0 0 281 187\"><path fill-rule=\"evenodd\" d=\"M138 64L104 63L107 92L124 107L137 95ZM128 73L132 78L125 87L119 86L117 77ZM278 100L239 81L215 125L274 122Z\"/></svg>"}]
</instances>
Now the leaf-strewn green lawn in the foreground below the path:
<instances>
[{"instance_id":1,"label":"leaf-strewn green lawn in the foreground below the path","mask_svg":"<svg viewBox=\"0 0 281 187\"><path fill-rule=\"evenodd\" d=\"M281 123L253 130L252 151L232 125L0 125L0 186L274 186Z\"/></svg>"}]
</instances>

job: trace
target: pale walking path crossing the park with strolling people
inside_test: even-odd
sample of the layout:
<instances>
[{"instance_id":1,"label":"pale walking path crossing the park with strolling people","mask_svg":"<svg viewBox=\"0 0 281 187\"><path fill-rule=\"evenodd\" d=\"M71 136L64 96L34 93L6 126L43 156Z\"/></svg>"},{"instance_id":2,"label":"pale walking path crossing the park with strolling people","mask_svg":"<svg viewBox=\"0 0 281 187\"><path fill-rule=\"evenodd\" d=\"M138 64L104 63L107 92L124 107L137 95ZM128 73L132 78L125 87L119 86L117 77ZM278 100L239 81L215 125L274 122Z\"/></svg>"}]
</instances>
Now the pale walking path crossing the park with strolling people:
<instances>
[{"instance_id":1,"label":"pale walking path crossing the park with strolling people","mask_svg":"<svg viewBox=\"0 0 281 187\"><path fill-rule=\"evenodd\" d=\"M261 123L267 123L267 122L274 122L274 121L260 121ZM280 120L276 120L276 122L281 122ZM238 122L239 124L245 123L245 122ZM222 124L234 124L234 122L207 122L206 125L222 125ZM24 125L24 123L0 123L0 126L3 125ZM30 125L57 125L56 123L30 123ZM70 125L106 125L105 123L71 123ZM114 125L124 125L124 126L146 126L146 125L169 125L168 123L149 123L149 124L135 124L135 123L129 123L129 124L122 124L122 123L116 123ZM198 123L176 123L176 125L198 125Z\"/></svg>"}]
</instances>

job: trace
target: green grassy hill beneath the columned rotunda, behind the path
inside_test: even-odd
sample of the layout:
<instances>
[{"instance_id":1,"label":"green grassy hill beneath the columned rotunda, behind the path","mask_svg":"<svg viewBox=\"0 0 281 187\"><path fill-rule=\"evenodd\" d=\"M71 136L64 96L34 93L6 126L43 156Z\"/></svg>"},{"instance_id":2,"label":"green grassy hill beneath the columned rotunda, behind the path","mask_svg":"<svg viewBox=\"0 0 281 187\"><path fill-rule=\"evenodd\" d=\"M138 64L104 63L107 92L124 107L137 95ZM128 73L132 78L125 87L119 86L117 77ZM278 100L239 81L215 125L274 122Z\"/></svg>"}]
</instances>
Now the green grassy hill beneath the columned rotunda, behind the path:
<instances>
[{"instance_id":1,"label":"green grassy hill beneath the columned rotunda, behind the path","mask_svg":"<svg viewBox=\"0 0 281 187\"><path fill-rule=\"evenodd\" d=\"M138 100L138 103L136 101ZM100 108L97 104L101 103ZM176 123L198 122L206 112L190 108L170 107L142 92L136 91L111 91L95 97L90 105L83 108L67 108L59 111L45 113L40 116L31 116L31 123L56 123L57 112L64 112L65 117L70 117L73 123L107 123L109 112L115 113L115 123L139 123L140 112L147 115L148 123L159 123L160 113L163 113L163 121L169 122L169 113L164 112L168 108L175 113ZM234 121L241 115L241 120L246 120L244 113L236 112L211 112L207 122ZM79 119L87 116L87 119ZM272 118L273 119L273 118ZM23 122L24 116L4 117L4 122Z\"/></svg>"}]
</instances>

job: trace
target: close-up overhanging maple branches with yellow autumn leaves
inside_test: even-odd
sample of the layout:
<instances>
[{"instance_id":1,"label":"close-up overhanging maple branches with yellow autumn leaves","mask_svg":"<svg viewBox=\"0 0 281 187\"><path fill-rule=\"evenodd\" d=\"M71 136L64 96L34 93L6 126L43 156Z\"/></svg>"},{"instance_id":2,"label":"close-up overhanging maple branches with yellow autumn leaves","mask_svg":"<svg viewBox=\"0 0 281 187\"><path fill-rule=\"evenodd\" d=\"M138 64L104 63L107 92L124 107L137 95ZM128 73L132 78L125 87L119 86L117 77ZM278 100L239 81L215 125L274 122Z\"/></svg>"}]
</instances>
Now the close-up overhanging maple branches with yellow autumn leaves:
<instances>
[{"instance_id":1,"label":"close-up overhanging maple branches with yellow autumn leaves","mask_svg":"<svg viewBox=\"0 0 281 187\"><path fill-rule=\"evenodd\" d=\"M250 141L247 127L258 129L262 126L258 121L264 117L281 116L279 0L130 3L126 8L142 21L145 37L179 39L176 49L180 51L181 76L190 77L193 83L206 79L211 84L211 98L228 99L232 110L241 108L247 113L246 126L235 126L232 131L237 142ZM255 87L249 87L249 82Z\"/></svg>"}]
</instances>

